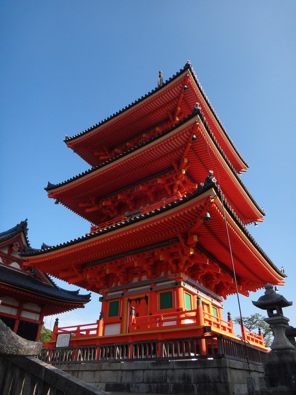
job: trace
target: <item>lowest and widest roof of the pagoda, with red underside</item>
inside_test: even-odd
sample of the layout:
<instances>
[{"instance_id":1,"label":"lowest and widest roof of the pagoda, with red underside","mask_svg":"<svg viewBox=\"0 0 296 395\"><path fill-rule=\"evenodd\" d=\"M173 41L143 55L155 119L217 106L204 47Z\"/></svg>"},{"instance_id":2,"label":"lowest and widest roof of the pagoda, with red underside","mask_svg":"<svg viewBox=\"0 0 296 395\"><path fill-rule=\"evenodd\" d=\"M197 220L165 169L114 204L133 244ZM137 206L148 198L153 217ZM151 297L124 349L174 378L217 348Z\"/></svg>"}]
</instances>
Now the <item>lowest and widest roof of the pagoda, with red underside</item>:
<instances>
[{"instance_id":1,"label":"lowest and widest roof of the pagoda, with red underside","mask_svg":"<svg viewBox=\"0 0 296 395\"><path fill-rule=\"evenodd\" d=\"M99 286L96 282L103 274L108 275L105 263L114 254L128 255L136 248L173 238L188 246L196 267L198 261L194 261L194 254L197 255L197 251L202 249L214 262L220 262L226 271L232 273L222 204L220 191L213 184L182 200L91 235L43 250L30 249L22 255L27 260L25 265L97 292ZM224 204L235 271L240 281L239 290L245 293L263 287L266 282L282 283L285 275ZM210 213L210 221L204 219L206 212ZM192 236L197 243L192 241ZM91 279L87 276L89 264L97 267Z\"/></svg>"}]
</instances>

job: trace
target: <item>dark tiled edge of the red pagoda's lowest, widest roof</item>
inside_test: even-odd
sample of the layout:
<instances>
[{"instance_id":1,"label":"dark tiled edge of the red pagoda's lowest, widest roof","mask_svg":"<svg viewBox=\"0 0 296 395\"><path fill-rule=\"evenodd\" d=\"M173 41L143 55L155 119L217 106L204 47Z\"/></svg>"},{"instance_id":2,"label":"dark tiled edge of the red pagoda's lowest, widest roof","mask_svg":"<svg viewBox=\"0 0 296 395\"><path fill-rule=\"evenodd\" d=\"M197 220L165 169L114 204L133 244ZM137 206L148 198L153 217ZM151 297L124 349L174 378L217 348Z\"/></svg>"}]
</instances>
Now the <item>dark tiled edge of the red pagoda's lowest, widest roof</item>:
<instances>
[{"instance_id":1,"label":"dark tiled edge of the red pagoda's lowest, widest roof","mask_svg":"<svg viewBox=\"0 0 296 395\"><path fill-rule=\"evenodd\" d=\"M73 244L77 244L80 241L84 241L84 240L89 240L92 239L94 237L98 237L100 235L104 235L107 234L115 229L118 228L123 228L125 226L131 225L133 223L136 222L140 222L142 220L144 220L145 218L148 217L153 217L155 215L158 215L159 213L162 213L164 211L168 211L173 207L177 207L191 199L193 199L194 197L197 197L201 194L203 194L204 192L208 191L209 189L214 188L217 195L221 196L221 192L220 192L220 186L216 186L215 183L207 183L206 185L204 185L203 187L198 187L198 189L193 192L192 194L188 194L187 197L183 197L182 199L177 199L176 201L173 201L169 204L166 204L165 206L161 206L155 210L149 211L148 213L144 213L144 214L137 214L135 217L126 219L123 222L119 222L117 224L108 226L104 229L100 229L92 234L86 235L86 236L82 236L82 237L78 237L75 238L74 240L70 240L70 241L66 241L64 243L58 244L56 246L53 247L48 247L48 248L44 248L42 250L37 250L37 249L31 249L32 252L23 252L20 255L22 256L34 256L34 255L39 255L39 254L44 254L46 252L50 252L50 251L54 251L54 250L58 250L60 248L63 247L67 247ZM250 232L247 230L247 228L244 226L243 222L239 219L239 217L236 215L236 213L234 212L234 210L232 209L232 207L229 205L229 203L227 203L227 200L223 197L222 195L222 201L224 203L225 209L227 210L227 212L229 213L229 215L234 219L234 221L236 222L236 224L240 227L240 229L243 231L243 233L246 235L246 237L248 237L248 239L252 242L252 244L257 248L257 250L260 252L260 254L263 256L263 258L267 261L267 263L280 275L283 277L286 277L286 275L281 272L276 265L271 261L271 259L266 255L266 253L262 250L262 248L259 246L259 244L257 243L257 241L254 239L254 237L250 234Z\"/></svg>"}]
</instances>

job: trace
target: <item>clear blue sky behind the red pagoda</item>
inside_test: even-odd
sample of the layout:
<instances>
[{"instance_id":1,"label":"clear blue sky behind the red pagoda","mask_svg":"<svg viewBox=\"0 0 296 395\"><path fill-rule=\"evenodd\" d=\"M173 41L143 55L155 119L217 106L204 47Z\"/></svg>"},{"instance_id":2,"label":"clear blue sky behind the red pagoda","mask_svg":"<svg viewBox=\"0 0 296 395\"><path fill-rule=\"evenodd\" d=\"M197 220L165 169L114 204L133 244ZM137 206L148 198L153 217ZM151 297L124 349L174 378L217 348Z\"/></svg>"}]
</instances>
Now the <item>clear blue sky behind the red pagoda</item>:
<instances>
[{"instance_id":1,"label":"clear blue sky behind the red pagoda","mask_svg":"<svg viewBox=\"0 0 296 395\"><path fill-rule=\"evenodd\" d=\"M242 180L267 215L249 230L288 274L280 292L294 300L285 314L295 326L295 21L294 0L1 0L0 232L28 217L36 248L88 232L43 190L89 168L65 134L108 117L154 88L159 70L167 79L190 59L250 164ZM261 294L241 297L243 315L259 312L251 300ZM224 317L238 316L235 297L224 306ZM99 311L93 294L60 323L94 322Z\"/></svg>"}]
</instances>

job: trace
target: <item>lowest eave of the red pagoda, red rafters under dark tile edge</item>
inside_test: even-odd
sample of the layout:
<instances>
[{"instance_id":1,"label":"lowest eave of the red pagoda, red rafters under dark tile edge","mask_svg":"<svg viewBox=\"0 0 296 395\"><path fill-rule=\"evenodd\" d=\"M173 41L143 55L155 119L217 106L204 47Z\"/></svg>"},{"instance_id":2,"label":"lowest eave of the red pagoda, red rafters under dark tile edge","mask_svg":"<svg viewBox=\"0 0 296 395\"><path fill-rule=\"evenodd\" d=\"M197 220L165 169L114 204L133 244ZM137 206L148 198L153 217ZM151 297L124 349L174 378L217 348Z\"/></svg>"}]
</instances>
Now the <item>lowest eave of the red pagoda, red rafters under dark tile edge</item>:
<instances>
[{"instance_id":1,"label":"lowest eave of the red pagoda, red rafters under dark tile edge","mask_svg":"<svg viewBox=\"0 0 296 395\"><path fill-rule=\"evenodd\" d=\"M197 253L195 248L195 244L198 242L199 245L209 251L214 257L219 257L219 260L223 262L224 268L221 268L221 266L219 268L218 265L217 273L213 275L217 279L217 284L222 279L232 284L232 268L229 266L229 250L221 209L221 201L217 191L210 189L200 196L194 196L185 200L183 204L179 203L179 205L173 205L170 209L159 210L152 216L143 216L143 219L138 218L137 221L132 221L117 229L111 227L108 232L99 232L99 234L102 234L101 236L92 235L84 238L84 240L76 241L74 244L51 251L44 251L37 256L26 256L28 260L27 265L36 266L53 276L78 286L83 286L86 289L95 290L99 287L96 284L96 281L98 282L96 280L98 270L101 273L102 268L106 267L106 264L97 265L99 269L96 268L95 272L93 268L82 269L83 264L93 260L92 257L96 256L96 260L106 259L107 261L111 259L111 255L114 253L130 256L131 252L129 251L135 247L142 248L149 244L180 237L179 235L182 233L183 235L187 234L188 239L181 240L183 249L180 245L177 249L180 250L181 248L181 250L184 250L185 261L191 262L189 264L189 266L191 265L190 268L196 266L196 268L200 269L202 267L198 261L200 254ZM207 210L212 217L209 222L204 221L204 215ZM274 264L268 262L266 256L263 257L258 247L243 231L243 228L236 223L236 220L232 218L229 212L227 212L227 221L231 232L230 237L237 276L238 278L245 278L250 284L255 284L251 287L249 286L248 288L250 289L246 289L242 282L240 291L244 293L247 290L255 290L256 287L260 288L266 280L275 284L280 283L284 276L277 272ZM242 246L245 248L244 253L242 253ZM195 257L197 257L196 261ZM167 264L166 254L163 255L161 260ZM75 273L68 269L70 265L76 268ZM223 276L222 272L225 272ZM194 273L193 275L191 274L193 278L198 276L198 273L195 275ZM89 276L93 277L93 279ZM209 277L208 281L209 287L213 282L213 278ZM221 288L221 286L219 287ZM229 290L232 288L233 285L230 286ZM223 294L222 289L220 293Z\"/></svg>"}]
</instances>

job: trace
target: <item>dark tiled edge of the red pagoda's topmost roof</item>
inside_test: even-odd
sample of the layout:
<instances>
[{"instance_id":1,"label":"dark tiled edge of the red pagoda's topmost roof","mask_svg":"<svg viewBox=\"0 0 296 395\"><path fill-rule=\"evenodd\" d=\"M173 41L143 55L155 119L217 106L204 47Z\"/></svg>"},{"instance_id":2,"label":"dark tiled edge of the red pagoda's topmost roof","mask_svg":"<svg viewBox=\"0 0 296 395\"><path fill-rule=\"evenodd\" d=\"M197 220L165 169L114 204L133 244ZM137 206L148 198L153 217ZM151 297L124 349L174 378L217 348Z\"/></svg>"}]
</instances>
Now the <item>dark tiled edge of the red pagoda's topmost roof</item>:
<instances>
[{"instance_id":1,"label":"dark tiled edge of the red pagoda's topmost roof","mask_svg":"<svg viewBox=\"0 0 296 395\"><path fill-rule=\"evenodd\" d=\"M218 117L218 115L216 114L216 111L214 110L208 96L206 96L205 91L203 90L199 80L196 77L196 74L193 70L193 67L191 66L190 61L187 61L187 63L185 64L185 66L183 67L183 69L180 69L179 72L177 72L176 74L174 74L171 78L167 79L163 85L156 87L154 89L152 89L150 92L148 92L146 95L141 96L138 100L136 100L135 102L132 102L131 104L129 104L128 106L125 106L124 108L122 108L121 110L117 111L116 113L112 114L110 117L105 118L104 120L102 120L99 123L96 123L95 125L89 127L88 129L85 129L83 132L77 133L74 136L67 136L65 138L65 143L68 143L72 140L74 140L77 137L80 137L88 132L90 132L91 130L96 129L98 126L103 125L104 123L108 122L109 120L111 120L112 118L117 117L119 114L122 114L124 111L130 109L131 107L135 106L136 104L140 103L142 100L145 100L147 97L149 97L150 95L152 95L153 93L157 92L158 90L163 89L166 85L168 85L171 81L173 81L174 79L178 78L182 73L185 72L185 70L190 70L192 77L194 78L196 84L198 85L200 92L204 98L204 100L206 101L206 103L208 104L208 106L210 107L210 109L212 110L214 117L216 118L217 122L219 123L219 125L221 126L223 132L225 133L225 136L227 137L229 143L231 144L232 148L234 149L234 151L237 153L237 155L239 156L239 158L244 162L244 164L249 167L247 161L241 156L241 154L238 152L237 148L235 147L233 141L231 140L229 134L227 133L226 129L224 128L222 121L220 120L220 118Z\"/></svg>"}]
</instances>

